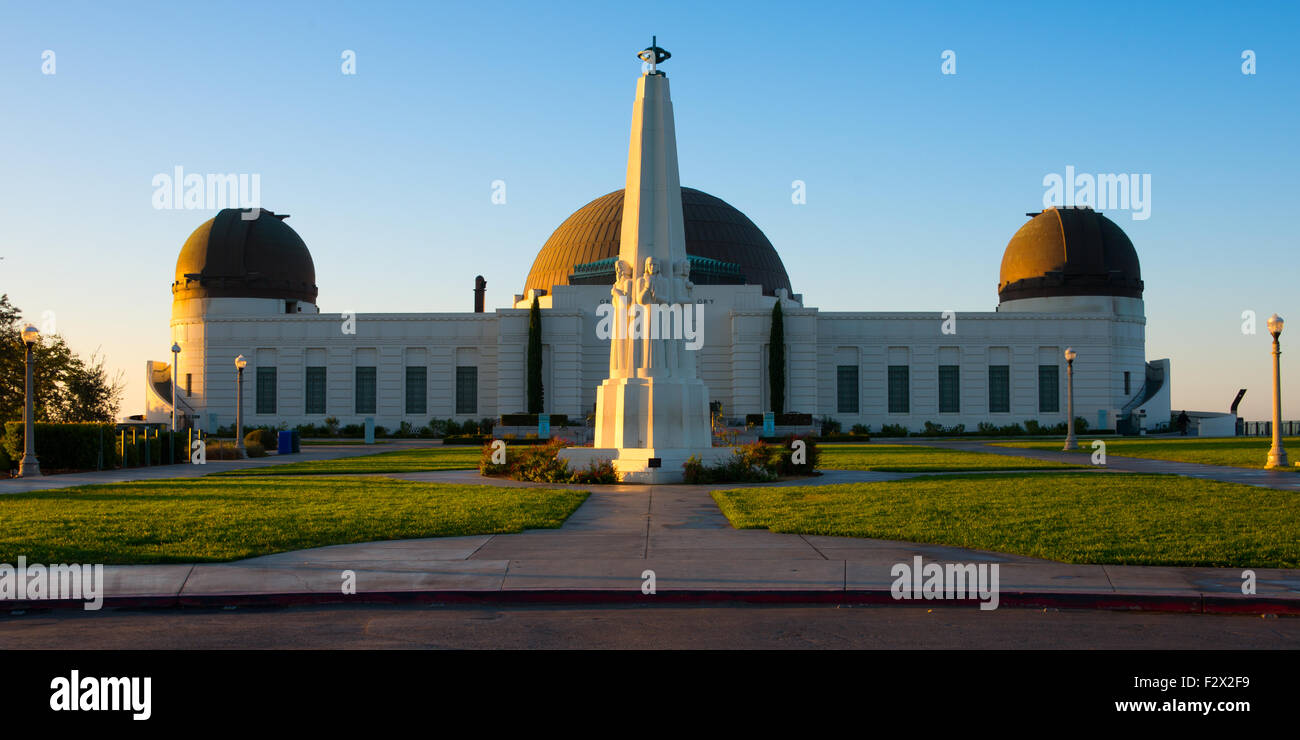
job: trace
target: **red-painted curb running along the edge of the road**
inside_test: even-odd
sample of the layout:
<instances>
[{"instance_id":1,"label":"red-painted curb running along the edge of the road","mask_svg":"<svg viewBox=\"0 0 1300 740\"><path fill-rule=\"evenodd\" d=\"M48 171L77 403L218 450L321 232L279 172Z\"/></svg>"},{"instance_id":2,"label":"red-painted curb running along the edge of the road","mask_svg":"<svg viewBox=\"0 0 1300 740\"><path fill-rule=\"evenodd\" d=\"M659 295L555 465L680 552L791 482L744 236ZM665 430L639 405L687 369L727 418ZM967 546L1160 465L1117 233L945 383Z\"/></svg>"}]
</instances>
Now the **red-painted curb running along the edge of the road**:
<instances>
[{"instance_id":1,"label":"red-painted curb running along the edge of the road","mask_svg":"<svg viewBox=\"0 0 1300 740\"><path fill-rule=\"evenodd\" d=\"M339 603L448 603L448 605L680 605L680 603L826 603L845 606L926 606L979 609L976 600L896 600L888 589L866 590L398 590L342 593L230 593L199 596L138 596L104 598L104 609L212 609L218 606L318 606ZM1166 596L1069 592L1005 592L998 609L1101 609L1180 614L1275 614L1300 616L1300 600L1270 596ZM5 601L0 611L84 610L84 602Z\"/></svg>"}]
</instances>

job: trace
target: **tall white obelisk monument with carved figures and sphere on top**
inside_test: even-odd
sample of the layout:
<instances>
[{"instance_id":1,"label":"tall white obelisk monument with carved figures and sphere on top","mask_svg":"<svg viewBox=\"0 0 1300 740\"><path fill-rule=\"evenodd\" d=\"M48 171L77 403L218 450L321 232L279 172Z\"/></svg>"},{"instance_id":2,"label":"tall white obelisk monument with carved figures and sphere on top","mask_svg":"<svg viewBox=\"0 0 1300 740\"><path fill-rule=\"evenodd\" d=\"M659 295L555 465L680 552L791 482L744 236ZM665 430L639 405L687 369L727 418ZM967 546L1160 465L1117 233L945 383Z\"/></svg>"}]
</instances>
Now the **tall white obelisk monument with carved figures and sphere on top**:
<instances>
[{"instance_id":1,"label":"tall white obelisk monument with carved figures and sphere on top","mask_svg":"<svg viewBox=\"0 0 1300 740\"><path fill-rule=\"evenodd\" d=\"M682 336L684 323L699 313L668 77L658 69L671 55L651 42L637 56L645 72L632 104L623 231L610 290L610 375L597 390L594 447L567 447L560 458L573 468L612 460L627 482L675 482L686 458L712 464L732 450L712 446L708 389L696 372L698 347L688 349Z\"/></svg>"}]
</instances>

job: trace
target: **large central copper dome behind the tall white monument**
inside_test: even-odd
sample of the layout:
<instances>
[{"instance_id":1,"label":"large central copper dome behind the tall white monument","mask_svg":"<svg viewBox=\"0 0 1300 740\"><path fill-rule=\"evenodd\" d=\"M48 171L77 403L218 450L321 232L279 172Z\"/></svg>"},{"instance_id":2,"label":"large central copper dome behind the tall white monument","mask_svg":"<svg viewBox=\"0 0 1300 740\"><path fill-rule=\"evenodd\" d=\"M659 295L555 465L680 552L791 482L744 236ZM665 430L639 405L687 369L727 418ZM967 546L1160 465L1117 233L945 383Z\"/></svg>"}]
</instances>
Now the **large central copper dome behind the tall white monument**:
<instances>
[{"instance_id":1,"label":"large central copper dome behind the tall white monument","mask_svg":"<svg viewBox=\"0 0 1300 740\"><path fill-rule=\"evenodd\" d=\"M762 285L766 295L790 290L780 255L748 216L720 198L681 189L686 255L736 265L744 282ZM578 208L546 239L533 260L524 291L572 285L573 268L619 256L623 234L623 191L615 190ZM611 280L612 282L612 280Z\"/></svg>"}]
</instances>

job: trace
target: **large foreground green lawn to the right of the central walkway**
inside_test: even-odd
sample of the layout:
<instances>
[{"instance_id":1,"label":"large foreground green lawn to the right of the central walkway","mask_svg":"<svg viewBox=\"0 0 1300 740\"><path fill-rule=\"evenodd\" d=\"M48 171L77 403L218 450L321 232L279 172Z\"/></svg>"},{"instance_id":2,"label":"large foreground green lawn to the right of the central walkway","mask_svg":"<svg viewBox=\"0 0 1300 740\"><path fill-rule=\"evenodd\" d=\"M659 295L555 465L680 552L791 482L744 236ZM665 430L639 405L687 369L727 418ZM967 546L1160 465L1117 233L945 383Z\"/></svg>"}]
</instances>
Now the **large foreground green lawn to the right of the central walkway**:
<instances>
[{"instance_id":1,"label":"large foreground green lawn to the right of the central walkway","mask_svg":"<svg viewBox=\"0 0 1300 740\"><path fill-rule=\"evenodd\" d=\"M712 496L737 528L953 545L1066 563L1300 567L1295 492L1202 479L994 473Z\"/></svg>"}]
</instances>

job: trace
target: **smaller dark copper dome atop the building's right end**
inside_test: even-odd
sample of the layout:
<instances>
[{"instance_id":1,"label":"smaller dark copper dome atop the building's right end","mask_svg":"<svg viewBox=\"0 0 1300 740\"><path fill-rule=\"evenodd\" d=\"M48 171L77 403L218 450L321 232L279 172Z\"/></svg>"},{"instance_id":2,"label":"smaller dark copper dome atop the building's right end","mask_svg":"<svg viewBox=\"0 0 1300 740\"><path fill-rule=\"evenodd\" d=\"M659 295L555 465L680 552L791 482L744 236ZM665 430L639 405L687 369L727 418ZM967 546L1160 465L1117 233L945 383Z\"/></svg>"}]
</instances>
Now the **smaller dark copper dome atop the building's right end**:
<instances>
[{"instance_id":1,"label":"smaller dark copper dome atop the building's right end","mask_svg":"<svg viewBox=\"0 0 1300 740\"><path fill-rule=\"evenodd\" d=\"M1001 302L1058 295L1141 298L1138 250L1087 207L1048 208L1011 237L997 281Z\"/></svg>"}]
</instances>

